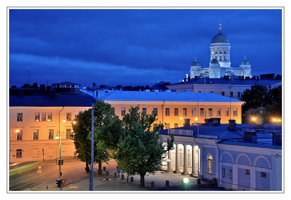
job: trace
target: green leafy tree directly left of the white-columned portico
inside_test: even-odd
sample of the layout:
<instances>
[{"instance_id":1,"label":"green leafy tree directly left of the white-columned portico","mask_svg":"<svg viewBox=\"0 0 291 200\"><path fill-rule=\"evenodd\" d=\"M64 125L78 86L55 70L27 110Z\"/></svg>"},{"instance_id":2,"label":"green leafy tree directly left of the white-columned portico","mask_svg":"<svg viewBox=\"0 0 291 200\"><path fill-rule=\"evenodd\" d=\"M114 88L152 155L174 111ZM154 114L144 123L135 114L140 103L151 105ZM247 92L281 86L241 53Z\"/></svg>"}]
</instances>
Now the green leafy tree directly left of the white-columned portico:
<instances>
[{"instance_id":1,"label":"green leafy tree directly left of the white-columned portico","mask_svg":"<svg viewBox=\"0 0 291 200\"><path fill-rule=\"evenodd\" d=\"M145 187L145 176L160 170L166 151L173 149L173 135L167 144L159 141L157 131L163 124L160 122L152 127L152 123L157 120L156 115L154 111L151 114L139 112L139 106L136 106L131 107L123 117L125 131L120 135L118 151L114 157L123 172L140 176L139 187Z\"/></svg>"}]
</instances>

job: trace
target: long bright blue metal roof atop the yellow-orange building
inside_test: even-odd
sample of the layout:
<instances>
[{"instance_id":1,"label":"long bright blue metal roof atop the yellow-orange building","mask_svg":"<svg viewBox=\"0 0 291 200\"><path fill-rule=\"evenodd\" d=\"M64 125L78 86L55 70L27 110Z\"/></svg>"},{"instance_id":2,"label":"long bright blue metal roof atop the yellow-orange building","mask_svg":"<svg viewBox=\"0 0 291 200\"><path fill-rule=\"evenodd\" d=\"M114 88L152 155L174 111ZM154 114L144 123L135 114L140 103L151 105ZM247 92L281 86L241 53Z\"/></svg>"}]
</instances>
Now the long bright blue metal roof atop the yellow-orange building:
<instances>
[{"instance_id":1,"label":"long bright blue metal roof atop the yellow-orange building","mask_svg":"<svg viewBox=\"0 0 291 200\"><path fill-rule=\"evenodd\" d=\"M241 102L237 99L215 93L202 92L137 92L116 91L100 98L105 101L199 101L199 102Z\"/></svg>"}]
</instances>

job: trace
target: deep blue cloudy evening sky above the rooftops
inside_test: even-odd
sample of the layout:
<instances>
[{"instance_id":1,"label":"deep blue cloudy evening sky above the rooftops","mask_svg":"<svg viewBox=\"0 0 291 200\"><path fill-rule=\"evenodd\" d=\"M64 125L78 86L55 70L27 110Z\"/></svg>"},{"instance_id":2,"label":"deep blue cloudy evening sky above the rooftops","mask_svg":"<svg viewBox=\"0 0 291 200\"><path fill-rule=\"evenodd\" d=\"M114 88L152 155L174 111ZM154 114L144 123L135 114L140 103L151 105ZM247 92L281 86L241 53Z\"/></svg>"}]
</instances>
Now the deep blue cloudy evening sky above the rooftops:
<instances>
[{"instance_id":1,"label":"deep blue cloudy evening sky above the rooftops","mask_svg":"<svg viewBox=\"0 0 291 200\"><path fill-rule=\"evenodd\" d=\"M231 67L283 74L282 8L10 8L8 85L178 83L195 57L209 67L220 23Z\"/></svg>"}]
</instances>

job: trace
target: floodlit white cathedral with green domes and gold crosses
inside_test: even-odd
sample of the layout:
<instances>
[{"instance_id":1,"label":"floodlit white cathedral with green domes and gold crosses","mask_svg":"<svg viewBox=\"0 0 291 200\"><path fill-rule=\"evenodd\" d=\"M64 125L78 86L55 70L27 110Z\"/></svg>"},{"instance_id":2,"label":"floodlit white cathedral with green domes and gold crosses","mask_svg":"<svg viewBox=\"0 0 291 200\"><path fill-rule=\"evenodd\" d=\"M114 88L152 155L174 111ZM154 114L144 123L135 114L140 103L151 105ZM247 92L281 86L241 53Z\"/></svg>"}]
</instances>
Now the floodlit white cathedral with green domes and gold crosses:
<instances>
[{"instance_id":1,"label":"floodlit white cathedral with green domes and gold crosses","mask_svg":"<svg viewBox=\"0 0 291 200\"><path fill-rule=\"evenodd\" d=\"M239 67L230 67L230 42L226 35L221 33L222 24L219 25L219 33L212 38L210 44L209 67L201 69L195 57L195 61L190 67L191 78L195 76L223 78L233 75L251 78L251 65L246 60L246 56L244 56L244 60ZM188 74L186 74L186 77L188 78Z\"/></svg>"}]
</instances>

